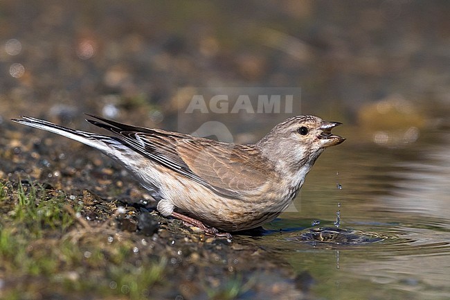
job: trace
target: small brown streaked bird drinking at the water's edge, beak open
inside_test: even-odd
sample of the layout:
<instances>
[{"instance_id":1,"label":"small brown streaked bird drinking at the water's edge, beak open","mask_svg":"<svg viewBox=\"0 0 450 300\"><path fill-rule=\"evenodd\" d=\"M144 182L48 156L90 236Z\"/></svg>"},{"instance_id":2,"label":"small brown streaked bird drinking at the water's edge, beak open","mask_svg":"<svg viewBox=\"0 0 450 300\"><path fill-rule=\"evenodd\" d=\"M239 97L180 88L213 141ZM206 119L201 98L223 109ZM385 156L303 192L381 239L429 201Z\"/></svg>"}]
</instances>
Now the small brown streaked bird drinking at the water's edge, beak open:
<instances>
[{"instance_id":1,"label":"small brown streaked bird drinking at the water's edge, beak open","mask_svg":"<svg viewBox=\"0 0 450 300\"><path fill-rule=\"evenodd\" d=\"M91 115L89 115L91 116ZM179 132L91 116L115 136L72 130L24 116L17 123L61 134L118 161L150 191L164 216L206 233L253 229L284 211L326 147L345 141L331 133L339 122L294 116L258 143L233 145Z\"/></svg>"}]
</instances>

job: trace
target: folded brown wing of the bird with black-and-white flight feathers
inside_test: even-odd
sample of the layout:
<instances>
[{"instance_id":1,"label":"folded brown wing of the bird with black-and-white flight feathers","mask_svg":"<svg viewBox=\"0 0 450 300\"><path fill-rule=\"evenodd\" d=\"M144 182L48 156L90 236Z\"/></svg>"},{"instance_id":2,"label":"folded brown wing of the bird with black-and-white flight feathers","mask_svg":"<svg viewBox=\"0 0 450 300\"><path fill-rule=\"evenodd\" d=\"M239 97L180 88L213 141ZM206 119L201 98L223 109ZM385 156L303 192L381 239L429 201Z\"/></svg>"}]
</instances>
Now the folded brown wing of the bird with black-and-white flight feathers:
<instances>
[{"instance_id":1,"label":"folded brown wing of the bird with black-and-white flight feathers","mask_svg":"<svg viewBox=\"0 0 450 300\"><path fill-rule=\"evenodd\" d=\"M98 116L90 123L117 134L141 155L226 197L245 199L269 187L267 161L253 145L231 145L188 134L124 125Z\"/></svg>"}]
</instances>

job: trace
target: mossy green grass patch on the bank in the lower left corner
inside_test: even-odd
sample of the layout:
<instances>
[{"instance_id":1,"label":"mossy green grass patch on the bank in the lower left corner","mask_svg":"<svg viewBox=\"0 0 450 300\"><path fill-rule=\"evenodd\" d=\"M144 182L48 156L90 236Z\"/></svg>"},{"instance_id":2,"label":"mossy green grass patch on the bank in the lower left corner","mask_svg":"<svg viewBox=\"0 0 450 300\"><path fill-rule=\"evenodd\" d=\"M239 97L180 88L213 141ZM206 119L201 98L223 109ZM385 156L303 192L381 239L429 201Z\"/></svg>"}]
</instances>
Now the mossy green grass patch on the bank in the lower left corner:
<instances>
[{"instance_id":1,"label":"mossy green grass patch on the bank in the lower left corner","mask_svg":"<svg viewBox=\"0 0 450 300\"><path fill-rule=\"evenodd\" d=\"M164 278L165 258L136 254L109 222L80 226L62 191L0 181L0 209L1 299L145 299Z\"/></svg>"}]
</instances>

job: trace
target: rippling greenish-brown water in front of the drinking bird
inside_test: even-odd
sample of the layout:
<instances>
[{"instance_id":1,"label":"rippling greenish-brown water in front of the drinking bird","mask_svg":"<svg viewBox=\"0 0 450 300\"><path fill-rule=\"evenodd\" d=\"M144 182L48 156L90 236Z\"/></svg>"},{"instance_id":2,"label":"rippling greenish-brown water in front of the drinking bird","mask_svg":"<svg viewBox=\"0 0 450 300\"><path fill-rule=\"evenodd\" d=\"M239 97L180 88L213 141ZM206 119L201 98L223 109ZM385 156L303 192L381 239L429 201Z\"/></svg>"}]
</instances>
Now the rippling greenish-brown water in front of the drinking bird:
<instances>
[{"instance_id":1,"label":"rippling greenish-brown water in front of the drinking bird","mask_svg":"<svg viewBox=\"0 0 450 300\"><path fill-rule=\"evenodd\" d=\"M450 134L426 134L399 148L343 134L252 242L308 272L312 299L450 299Z\"/></svg>"}]
</instances>

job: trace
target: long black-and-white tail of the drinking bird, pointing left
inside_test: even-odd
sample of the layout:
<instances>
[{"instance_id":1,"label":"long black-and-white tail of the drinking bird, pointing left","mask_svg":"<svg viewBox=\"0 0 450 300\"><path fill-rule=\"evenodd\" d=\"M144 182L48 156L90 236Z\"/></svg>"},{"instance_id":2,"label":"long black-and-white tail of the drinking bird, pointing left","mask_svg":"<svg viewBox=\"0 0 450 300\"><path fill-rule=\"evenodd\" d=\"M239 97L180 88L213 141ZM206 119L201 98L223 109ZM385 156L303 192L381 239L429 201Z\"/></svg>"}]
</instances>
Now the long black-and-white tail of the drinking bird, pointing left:
<instances>
[{"instance_id":1,"label":"long black-and-white tail of the drinking bird, pointing left","mask_svg":"<svg viewBox=\"0 0 450 300\"><path fill-rule=\"evenodd\" d=\"M104 136L101 134L94 134L91 132L84 132L81 130L73 130L71 128L56 125L48 121L39 120L38 118L32 118L30 116L13 118L12 121L30 127L35 127L49 132L53 132L55 134L60 134L62 136L66 136L69 139L73 139L75 141L79 141L80 143L84 143L85 145L89 145L93 148L96 148L104 152L105 154L109 154L111 152L111 144L120 143L116 138L112 136Z\"/></svg>"}]
</instances>

